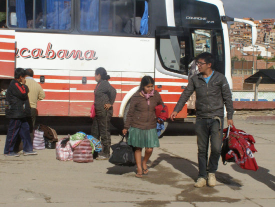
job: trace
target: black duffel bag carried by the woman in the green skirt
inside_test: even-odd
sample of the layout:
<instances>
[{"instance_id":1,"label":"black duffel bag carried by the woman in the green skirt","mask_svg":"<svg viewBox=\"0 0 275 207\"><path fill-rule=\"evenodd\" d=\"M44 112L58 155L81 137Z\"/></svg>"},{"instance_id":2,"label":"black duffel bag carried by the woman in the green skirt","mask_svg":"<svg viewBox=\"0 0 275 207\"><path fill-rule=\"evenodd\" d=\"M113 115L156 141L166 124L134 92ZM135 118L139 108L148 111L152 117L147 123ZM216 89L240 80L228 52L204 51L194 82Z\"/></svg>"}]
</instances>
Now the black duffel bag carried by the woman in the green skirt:
<instances>
[{"instance_id":1,"label":"black duffel bag carried by the woman in the green skirt","mask_svg":"<svg viewBox=\"0 0 275 207\"><path fill-rule=\"evenodd\" d=\"M125 136L122 136L117 144L111 145L112 153L109 162L120 166L134 166L135 159L133 147L127 144L127 137L125 137L126 141L123 141L124 137Z\"/></svg>"}]
</instances>

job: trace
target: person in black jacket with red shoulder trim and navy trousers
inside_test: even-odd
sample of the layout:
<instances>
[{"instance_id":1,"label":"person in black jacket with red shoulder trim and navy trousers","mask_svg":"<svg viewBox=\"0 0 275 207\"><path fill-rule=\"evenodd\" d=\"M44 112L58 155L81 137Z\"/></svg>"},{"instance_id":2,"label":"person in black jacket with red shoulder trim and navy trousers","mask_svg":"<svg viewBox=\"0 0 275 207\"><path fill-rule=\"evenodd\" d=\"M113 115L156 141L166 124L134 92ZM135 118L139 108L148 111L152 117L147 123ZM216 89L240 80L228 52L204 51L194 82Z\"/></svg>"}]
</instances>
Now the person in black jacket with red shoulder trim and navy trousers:
<instances>
[{"instance_id":1,"label":"person in black jacket with red shoulder trim and navy trousers","mask_svg":"<svg viewBox=\"0 0 275 207\"><path fill-rule=\"evenodd\" d=\"M18 136L23 142L23 155L34 155L29 134L27 117L30 116L30 106L27 93L28 87L25 85L25 70L16 68L14 79L10 82L6 92L5 116L9 118L4 156L17 157L19 154L14 152L14 145Z\"/></svg>"}]
</instances>

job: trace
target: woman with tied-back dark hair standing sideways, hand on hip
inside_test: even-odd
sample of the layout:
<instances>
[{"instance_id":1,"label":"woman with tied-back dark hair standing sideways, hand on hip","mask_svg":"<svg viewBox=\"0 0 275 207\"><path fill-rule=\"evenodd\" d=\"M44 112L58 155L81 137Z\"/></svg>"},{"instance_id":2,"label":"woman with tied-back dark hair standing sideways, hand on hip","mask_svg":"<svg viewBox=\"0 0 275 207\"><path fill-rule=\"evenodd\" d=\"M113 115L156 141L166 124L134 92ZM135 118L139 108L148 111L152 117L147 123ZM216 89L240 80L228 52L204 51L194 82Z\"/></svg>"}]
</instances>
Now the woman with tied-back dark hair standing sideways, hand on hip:
<instances>
[{"instance_id":1,"label":"woman with tied-back dark hair standing sideways, hand on hip","mask_svg":"<svg viewBox=\"0 0 275 207\"><path fill-rule=\"evenodd\" d=\"M104 68L97 68L94 74L97 85L94 89L95 118L92 122L91 135L101 139L102 151L98 153L97 160L108 159L110 156L110 119L112 105L116 97L116 90L109 84L110 76Z\"/></svg>"}]
</instances>

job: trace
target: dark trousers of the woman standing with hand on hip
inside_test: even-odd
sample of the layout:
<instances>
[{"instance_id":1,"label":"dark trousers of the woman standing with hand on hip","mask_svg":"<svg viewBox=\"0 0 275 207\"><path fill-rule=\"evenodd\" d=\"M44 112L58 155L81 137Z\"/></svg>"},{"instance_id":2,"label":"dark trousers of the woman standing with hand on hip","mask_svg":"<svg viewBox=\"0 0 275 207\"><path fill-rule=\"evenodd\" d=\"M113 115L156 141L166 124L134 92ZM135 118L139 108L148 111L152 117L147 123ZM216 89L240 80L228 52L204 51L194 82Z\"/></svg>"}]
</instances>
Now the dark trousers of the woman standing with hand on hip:
<instances>
[{"instance_id":1,"label":"dark trousers of the woman standing with hand on hip","mask_svg":"<svg viewBox=\"0 0 275 207\"><path fill-rule=\"evenodd\" d=\"M110 119L112 117L113 109L109 108L95 110L95 118L93 119L91 126L91 135L102 142L103 152L110 154L111 135L110 135Z\"/></svg>"}]
</instances>

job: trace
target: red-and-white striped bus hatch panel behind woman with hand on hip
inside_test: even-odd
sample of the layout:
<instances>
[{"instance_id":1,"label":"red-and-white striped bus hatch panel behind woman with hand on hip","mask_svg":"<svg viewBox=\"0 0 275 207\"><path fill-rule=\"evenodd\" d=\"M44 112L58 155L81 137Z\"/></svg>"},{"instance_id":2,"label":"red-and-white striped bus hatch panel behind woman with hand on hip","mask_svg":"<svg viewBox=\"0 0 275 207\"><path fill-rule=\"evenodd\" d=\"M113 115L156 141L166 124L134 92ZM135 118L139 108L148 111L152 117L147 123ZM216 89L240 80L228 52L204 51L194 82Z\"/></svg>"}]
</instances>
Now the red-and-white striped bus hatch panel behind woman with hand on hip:
<instances>
[{"instance_id":1,"label":"red-and-white striped bus hatch panel behind woman with hand on hip","mask_svg":"<svg viewBox=\"0 0 275 207\"><path fill-rule=\"evenodd\" d=\"M89 116L94 102L94 89L97 82L94 80L94 70L71 70L69 77L69 116ZM113 104L113 116L118 116L121 102L121 72L109 72L110 85L116 89L116 98Z\"/></svg>"}]
</instances>

